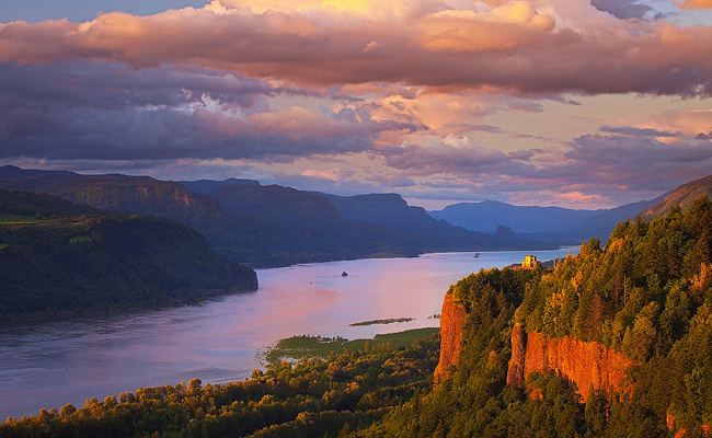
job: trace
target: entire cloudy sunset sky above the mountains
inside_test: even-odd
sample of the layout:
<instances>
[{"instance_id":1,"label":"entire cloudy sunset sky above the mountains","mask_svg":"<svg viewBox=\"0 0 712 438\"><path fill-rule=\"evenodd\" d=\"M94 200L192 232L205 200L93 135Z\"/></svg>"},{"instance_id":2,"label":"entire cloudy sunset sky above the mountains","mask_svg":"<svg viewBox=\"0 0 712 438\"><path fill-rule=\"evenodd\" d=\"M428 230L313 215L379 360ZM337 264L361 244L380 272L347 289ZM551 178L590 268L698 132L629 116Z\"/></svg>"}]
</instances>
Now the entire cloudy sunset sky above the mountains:
<instances>
[{"instance_id":1,"label":"entire cloudy sunset sky above the mountains","mask_svg":"<svg viewBox=\"0 0 712 438\"><path fill-rule=\"evenodd\" d=\"M0 0L0 164L611 208L712 174L712 0Z\"/></svg>"}]
</instances>

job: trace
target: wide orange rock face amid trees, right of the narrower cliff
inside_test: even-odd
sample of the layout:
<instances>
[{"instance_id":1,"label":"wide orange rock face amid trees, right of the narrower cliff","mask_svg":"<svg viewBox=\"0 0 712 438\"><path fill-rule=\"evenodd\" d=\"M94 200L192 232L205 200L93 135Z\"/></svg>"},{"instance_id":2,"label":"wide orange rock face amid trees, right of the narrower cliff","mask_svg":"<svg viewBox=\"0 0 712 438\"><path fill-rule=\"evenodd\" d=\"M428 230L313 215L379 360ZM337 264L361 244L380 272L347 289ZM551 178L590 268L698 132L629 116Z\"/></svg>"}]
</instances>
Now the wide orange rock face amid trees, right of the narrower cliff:
<instances>
[{"instance_id":1,"label":"wide orange rock face amid trees, right of the narrower cliff","mask_svg":"<svg viewBox=\"0 0 712 438\"><path fill-rule=\"evenodd\" d=\"M515 325L512 351L507 373L510 384L520 384L536 371L554 370L574 381L584 400L590 388L607 393L629 390L624 384L625 370L633 360L597 342L570 336L550 339L537 332L525 333L522 326Z\"/></svg>"}]
</instances>

